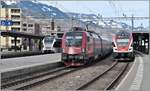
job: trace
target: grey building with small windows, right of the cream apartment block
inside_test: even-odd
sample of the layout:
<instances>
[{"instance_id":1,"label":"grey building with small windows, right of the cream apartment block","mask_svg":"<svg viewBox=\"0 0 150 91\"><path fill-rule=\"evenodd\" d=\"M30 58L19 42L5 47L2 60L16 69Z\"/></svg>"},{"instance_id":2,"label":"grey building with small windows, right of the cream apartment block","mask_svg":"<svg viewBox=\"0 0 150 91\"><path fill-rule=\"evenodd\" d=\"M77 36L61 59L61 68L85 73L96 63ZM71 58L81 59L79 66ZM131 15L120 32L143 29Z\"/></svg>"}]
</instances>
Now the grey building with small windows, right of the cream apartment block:
<instances>
[{"instance_id":1,"label":"grey building with small windows, right of the cream apartment block","mask_svg":"<svg viewBox=\"0 0 150 91\"><path fill-rule=\"evenodd\" d=\"M25 16L22 17L22 25L21 25L21 29L22 29L22 33L26 33L26 34L31 34L31 35L41 35L40 33L40 26L39 24L32 19L30 16ZM32 49L38 49L38 44L36 43L37 40L35 39L31 39L31 45L32 45ZM28 38L22 38L22 50L29 50L29 41Z\"/></svg>"}]
</instances>

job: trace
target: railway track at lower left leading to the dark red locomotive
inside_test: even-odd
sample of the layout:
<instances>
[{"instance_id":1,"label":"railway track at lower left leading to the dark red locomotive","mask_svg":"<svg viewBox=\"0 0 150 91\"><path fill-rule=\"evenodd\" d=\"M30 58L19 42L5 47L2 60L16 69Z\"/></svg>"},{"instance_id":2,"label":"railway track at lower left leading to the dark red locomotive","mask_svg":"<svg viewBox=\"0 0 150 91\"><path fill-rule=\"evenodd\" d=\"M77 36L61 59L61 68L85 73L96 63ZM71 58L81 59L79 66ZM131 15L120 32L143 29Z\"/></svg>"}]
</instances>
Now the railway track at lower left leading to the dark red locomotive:
<instances>
[{"instance_id":1,"label":"railway track at lower left leading to the dark red locomotive","mask_svg":"<svg viewBox=\"0 0 150 91\"><path fill-rule=\"evenodd\" d=\"M29 76L18 77L15 79L7 79L2 81L1 89L8 90L24 90L30 88L34 85L37 85L41 82L48 81L50 79L55 79L61 77L65 74L77 71L81 68L68 68L68 67L59 67L54 70L46 70L39 73L34 73Z\"/></svg>"}]
</instances>

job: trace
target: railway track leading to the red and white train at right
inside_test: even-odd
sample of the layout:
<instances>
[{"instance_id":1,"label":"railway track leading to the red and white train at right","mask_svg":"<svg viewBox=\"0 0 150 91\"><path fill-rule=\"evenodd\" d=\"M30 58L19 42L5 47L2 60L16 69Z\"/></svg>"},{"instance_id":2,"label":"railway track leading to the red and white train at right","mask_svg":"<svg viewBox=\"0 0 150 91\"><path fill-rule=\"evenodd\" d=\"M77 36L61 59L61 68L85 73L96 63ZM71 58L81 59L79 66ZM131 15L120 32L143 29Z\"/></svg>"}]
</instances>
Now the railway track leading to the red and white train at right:
<instances>
[{"instance_id":1,"label":"railway track leading to the red and white train at right","mask_svg":"<svg viewBox=\"0 0 150 91\"><path fill-rule=\"evenodd\" d=\"M124 66L122 66L121 70L118 70L118 72L115 74L114 78L111 79L107 84L104 85L104 79L105 77L109 77L109 72L112 73L113 70L115 70L115 67L117 67L120 63L117 61L113 63L112 66L110 66L108 69L106 69L103 73L93 77L88 82L82 84L81 86L77 87L76 90L110 90L113 88L113 86L116 84L116 82L119 80L119 78L122 76L122 74L127 69L129 63L124 63ZM109 78L107 78L109 79ZM101 86L98 86L101 85Z\"/></svg>"}]
</instances>

